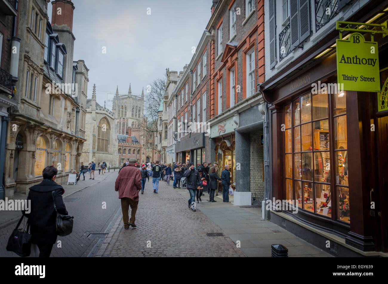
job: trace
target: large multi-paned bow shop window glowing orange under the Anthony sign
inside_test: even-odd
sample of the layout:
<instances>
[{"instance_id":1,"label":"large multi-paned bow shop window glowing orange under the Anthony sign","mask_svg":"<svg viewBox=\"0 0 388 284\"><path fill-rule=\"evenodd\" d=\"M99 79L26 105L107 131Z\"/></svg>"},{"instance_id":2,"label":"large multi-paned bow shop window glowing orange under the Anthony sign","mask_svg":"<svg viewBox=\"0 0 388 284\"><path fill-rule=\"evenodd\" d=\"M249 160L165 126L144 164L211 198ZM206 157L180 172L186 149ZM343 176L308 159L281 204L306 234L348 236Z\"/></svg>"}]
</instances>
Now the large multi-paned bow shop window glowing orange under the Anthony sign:
<instances>
[{"instance_id":1,"label":"large multi-paned bow shop window glowing orange under the Anthony sign","mask_svg":"<svg viewBox=\"0 0 388 284\"><path fill-rule=\"evenodd\" d=\"M284 124L286 198L294 196L299 208L329 218L332 206L337 206L338 218L350 222L346 94L302 95L284 106ZM331 179L331 156L336 161L335 180Z\"/></svg>"}]
</instances>

